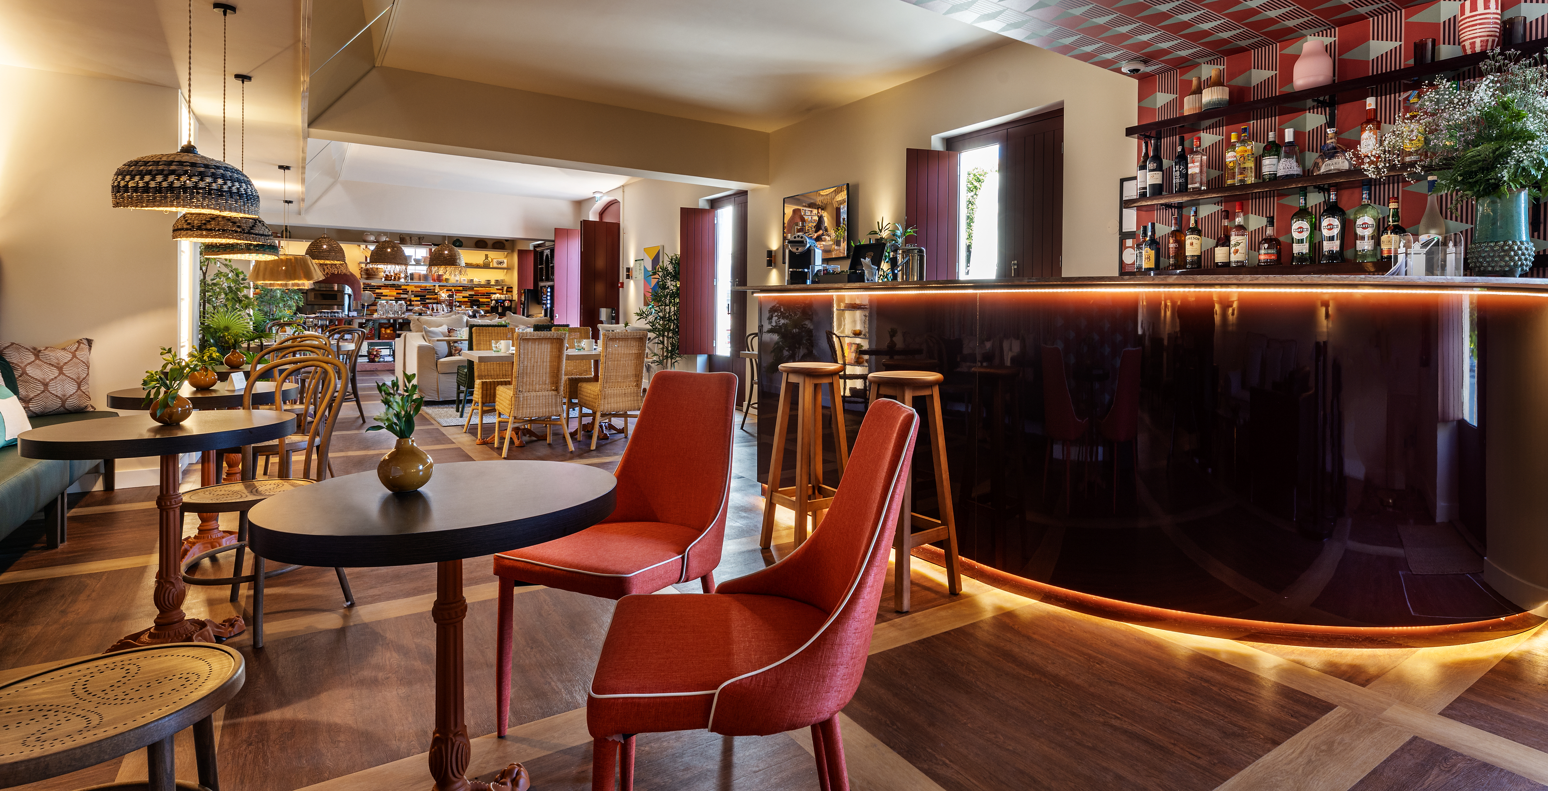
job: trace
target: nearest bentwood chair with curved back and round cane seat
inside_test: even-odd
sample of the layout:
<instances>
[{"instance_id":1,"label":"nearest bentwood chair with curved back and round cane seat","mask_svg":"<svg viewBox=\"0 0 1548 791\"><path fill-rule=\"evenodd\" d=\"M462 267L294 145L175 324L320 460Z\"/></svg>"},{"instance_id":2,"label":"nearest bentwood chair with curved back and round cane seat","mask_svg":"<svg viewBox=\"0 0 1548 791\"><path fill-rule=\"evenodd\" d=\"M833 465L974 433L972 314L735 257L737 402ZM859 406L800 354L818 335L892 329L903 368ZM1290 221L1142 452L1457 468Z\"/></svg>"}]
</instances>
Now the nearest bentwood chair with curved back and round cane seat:
<instances>
[{"instance_id":1,"label":"nearest bentwood chair with curved back and round cane seat","mask_svg":"<svg viewBox=\"0 0 1548 791\"><path fill-rule=\"evenodd\" d=\"M187 585L231 585L231 601L237 601L237 588L243 582L252 584L252 647L263 647L263 582L269 577L277 577L300 568L299 565L289 565L285 568L277 568L266 571L263 568L263 559L257 554L252 556L254 568L251 574L241 573L243 556L248 551L248 511L252 506L262 503L263 500L274 497L276 494L296 489L300 486L308 486L314 481L320 481L328 477L328 446L333 441L333 426L339 419L339 412L344 406L344 390L339 387L344 378L345 367L342 362L333 358L324 356L305 356L305 358L286 358L282 361L269 362L257 372L259 375L274 375L276 390L282 390L289 385L291 381L300 384L302 413L297 415L296 426L300 429L299 433L291 435L285 440L285 444L294 444L294 449L305 449L307 454L302 460L300 475L293 477L293 458L291 452L280 454L280 477L277 478L262 478L252 480L252 452L254 447L248 446L241 449L241 472L243 480L232 483L218 483L215 486L204 486L201 489L194 489L190 492L183 492L183 512L189 514L229 514L237 512L237 543L229 543L226 546L218 546L207 553L200 553L183 560L183 582ZM252 376L248 379L248 389L241 396L241 409L252 407L252 389L260 376ZM259 407L263 409L263 407ZM285 409L276 399L274 406L269 409ZM291 443L291 440L299 438L299 441ZM291 450L294 450L291 449ZM206 557L214 557L221 553L237 553L237 563L229 577L195 577L189 574L189 570L198 565L200 560ZM354 605L354 594L350 593L350 579L344 574L342 568L334 568L339 576L339 588L344 590L344 605Z\"/></svg>"}]
</instances>

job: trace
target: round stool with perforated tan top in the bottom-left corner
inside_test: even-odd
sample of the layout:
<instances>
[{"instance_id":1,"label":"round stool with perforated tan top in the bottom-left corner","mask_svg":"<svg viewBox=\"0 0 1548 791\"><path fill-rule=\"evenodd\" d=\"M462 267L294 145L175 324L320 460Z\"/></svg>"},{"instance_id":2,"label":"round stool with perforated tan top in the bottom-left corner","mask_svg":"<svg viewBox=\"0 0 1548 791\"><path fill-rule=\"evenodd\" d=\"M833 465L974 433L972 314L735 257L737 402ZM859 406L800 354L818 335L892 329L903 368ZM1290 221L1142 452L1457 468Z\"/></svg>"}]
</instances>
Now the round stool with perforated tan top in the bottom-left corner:
<instances>
[{"instance_id":1,"label":"round stool with perforated tan top in the bottom-left corner","mask_svg":"<svg viewBox=\"0 0 1548 791\"><path fill-rule=\"evenodd\" d=\"M147 748L150 780L94 788L220 791L215 711L246 678L241 655L209 642L70 659L0 684L0 779L59 777ZM194 728L198 785L176 782L172 740Z\"/></svg>"}]
</instances>

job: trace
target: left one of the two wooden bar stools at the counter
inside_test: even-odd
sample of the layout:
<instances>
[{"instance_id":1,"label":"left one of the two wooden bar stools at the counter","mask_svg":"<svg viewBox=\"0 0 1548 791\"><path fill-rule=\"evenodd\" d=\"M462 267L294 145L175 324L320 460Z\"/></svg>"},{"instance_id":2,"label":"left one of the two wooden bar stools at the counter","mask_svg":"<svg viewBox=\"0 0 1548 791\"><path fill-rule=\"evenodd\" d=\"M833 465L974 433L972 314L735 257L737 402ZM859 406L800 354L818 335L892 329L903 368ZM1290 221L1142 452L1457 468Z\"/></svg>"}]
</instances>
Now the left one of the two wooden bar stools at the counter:
<instances>
[{"instance_id":1,"label":"left one of the two wooden bar stools at the counter","mask_svg":"<svg viewBox=\"0 0 1548 791\"><path fill-rule=\"evenodd\" d=\"M785 362L779 367L779 415L774 419L774 457L769 458L769 481L763 486L763 534L759 546L774 543L774 506L796 512L796 546L807 540L807 515L811 529L822 523L817 514L833 505L834 486L822 483L822 385L833 393L833 440L837 446L839 475L850 463L850 443L844 433L844 401L839 392L837 362ZM796 401L796 485L780 486L785 477L785 432L789 429L789 392L799 389Z\"/></svg>"}]
</instances>

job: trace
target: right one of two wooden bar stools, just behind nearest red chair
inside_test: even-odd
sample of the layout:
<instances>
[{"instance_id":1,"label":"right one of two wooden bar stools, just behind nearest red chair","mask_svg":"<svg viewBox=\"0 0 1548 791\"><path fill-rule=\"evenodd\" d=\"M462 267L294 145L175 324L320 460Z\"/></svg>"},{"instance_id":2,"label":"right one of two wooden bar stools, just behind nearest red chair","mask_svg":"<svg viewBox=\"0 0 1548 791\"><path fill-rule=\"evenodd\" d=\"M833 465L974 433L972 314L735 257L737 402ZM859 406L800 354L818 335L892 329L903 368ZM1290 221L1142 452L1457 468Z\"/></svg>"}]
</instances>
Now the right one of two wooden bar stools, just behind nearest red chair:
<instances>
[{"instance_id":1,"label":"right one of two wooden bar stools, just behind nearest red chair","mask_svg":"<svg viewBox=\"0 0 1548 791\"><path fill-rule=\"evenodd\" d=\"M872 401L889 396L913 409L915 398L926 398L924 424L930 429L930 460L935 461L935 502L940 503L941 519L930 519L913 512L913 474L902 494L902 514L898 517L898 531L893 537L893 548L898 559L893 563L892 605L899 613L909 611L909 593L913 579L909 573L909 554L915 546L946 540L946 585L952 594L961 593L961 571L957 565L957 515L952 511L952 478L946 466L946 432L941 426L941 381L944 376L935 372L878 372L867 378L872 390ZM776 446L779 447L779 446ZM913 528L924 528L918 532Z\"/></svg>"}]
</instances>

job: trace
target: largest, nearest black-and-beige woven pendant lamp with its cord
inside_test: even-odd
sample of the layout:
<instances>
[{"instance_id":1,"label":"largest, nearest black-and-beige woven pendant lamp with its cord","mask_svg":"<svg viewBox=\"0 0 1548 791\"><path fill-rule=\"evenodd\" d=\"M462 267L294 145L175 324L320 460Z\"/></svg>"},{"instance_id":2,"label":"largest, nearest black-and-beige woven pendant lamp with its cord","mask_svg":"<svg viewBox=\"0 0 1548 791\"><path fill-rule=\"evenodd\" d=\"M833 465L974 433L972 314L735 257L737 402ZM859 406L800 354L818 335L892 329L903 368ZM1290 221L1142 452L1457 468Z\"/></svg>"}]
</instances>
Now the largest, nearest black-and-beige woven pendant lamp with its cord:
<instances>
[{"instance_id":1,"label":"largest, nearest black-and-beige woven pendant lamp with its cord","mask_svg":"<svg viewBox=\"0 0 1548 791\"><path fill-rule=\"evenodd\" d=\"M194 101L194 0L189 0L187 99ZM113 207L257 217L259 190L252 180L240 169L198 153L192 135L190 122L190 139L176 153L138 156L115 170Z\"/></svg>"}]
</instances>

